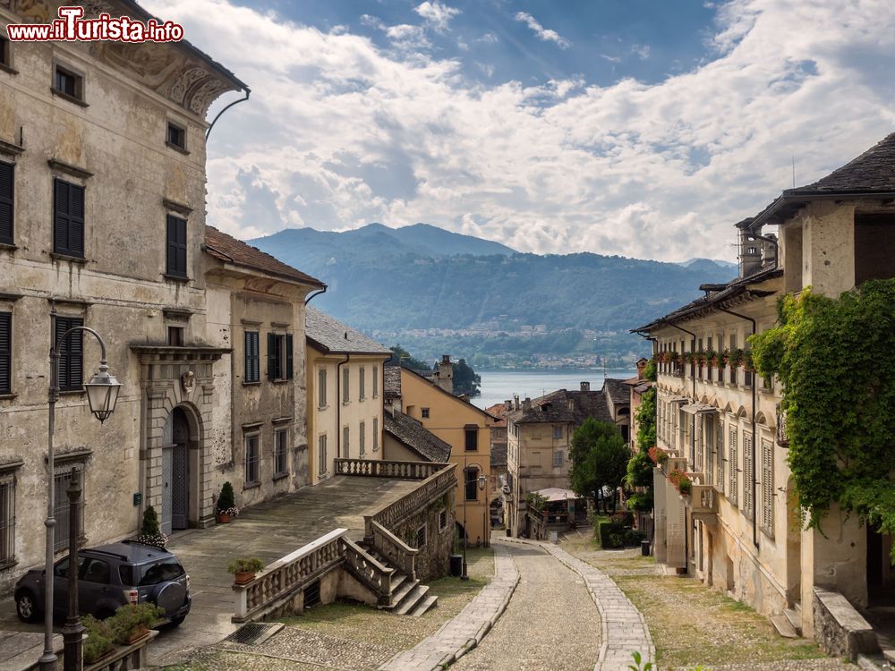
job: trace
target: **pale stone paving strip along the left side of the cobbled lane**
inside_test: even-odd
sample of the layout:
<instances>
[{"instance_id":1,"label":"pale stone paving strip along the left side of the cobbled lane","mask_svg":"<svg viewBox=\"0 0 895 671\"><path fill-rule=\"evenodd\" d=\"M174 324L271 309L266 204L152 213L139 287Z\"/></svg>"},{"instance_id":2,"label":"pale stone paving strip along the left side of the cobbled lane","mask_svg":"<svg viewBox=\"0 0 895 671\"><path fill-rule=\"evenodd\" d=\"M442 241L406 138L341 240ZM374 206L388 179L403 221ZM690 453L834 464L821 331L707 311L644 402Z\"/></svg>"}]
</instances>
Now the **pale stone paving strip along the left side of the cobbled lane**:
<instances>
[{"instance_id":1,"label":"pale stone paving strip along the left side of the cobbled lane","mask_svg":"<svg viewBox=\"0 0 895 671\"><path fill-rule=\"evenodd\" d=\"M399 652L380 671L437 671L478 645L507 608L519 582L519 571L509 550L499 541L494 548L494 577L460 613L439 631Z\"/></svg>"}]
</instances>

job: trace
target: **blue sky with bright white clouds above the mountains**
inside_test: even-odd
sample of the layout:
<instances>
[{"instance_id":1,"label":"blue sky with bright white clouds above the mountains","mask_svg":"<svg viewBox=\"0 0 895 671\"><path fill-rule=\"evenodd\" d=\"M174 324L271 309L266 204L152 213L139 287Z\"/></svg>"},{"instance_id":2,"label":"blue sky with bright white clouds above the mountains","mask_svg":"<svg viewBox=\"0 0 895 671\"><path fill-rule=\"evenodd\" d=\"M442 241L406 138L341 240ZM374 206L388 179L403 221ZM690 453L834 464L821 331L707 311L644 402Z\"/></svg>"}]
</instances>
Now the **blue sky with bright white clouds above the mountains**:
<instances>
[{"instance_id":1,"label":"blue sky with bright white clouds above the mountains","mask_svg":"<svg viewBox=\"0 0 895 671\"><path fill-rule=\"evenodd\" d=\"M810 183L895 131L889 0L143 4L251 87L209 145L209 223L243 238L733 259L793 158Z\"/></svg>"}]
</instances>

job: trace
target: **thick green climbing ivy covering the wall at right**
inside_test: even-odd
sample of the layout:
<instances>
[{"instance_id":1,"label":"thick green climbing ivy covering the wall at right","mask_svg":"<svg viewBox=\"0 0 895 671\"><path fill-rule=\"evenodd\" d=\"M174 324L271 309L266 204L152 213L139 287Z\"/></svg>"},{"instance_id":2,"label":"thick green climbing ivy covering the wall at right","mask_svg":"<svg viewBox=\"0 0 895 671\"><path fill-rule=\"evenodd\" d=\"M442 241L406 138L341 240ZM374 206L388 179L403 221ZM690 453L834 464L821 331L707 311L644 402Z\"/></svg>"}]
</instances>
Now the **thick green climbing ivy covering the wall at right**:
<instances>
[{"instance_id":1,"label":"thick green climbing ivy covering the wall at right","mask_svg":"<svg viewBox=\"0 0 895 671\"><path fill-rule=\"evenodd\" d=\"M788 294L777 324L749 340L755 369L783 384L789 469L808 525L820 529L835 502L895 533L895 280L838 299Z\"/></svg>"}]
</instances>

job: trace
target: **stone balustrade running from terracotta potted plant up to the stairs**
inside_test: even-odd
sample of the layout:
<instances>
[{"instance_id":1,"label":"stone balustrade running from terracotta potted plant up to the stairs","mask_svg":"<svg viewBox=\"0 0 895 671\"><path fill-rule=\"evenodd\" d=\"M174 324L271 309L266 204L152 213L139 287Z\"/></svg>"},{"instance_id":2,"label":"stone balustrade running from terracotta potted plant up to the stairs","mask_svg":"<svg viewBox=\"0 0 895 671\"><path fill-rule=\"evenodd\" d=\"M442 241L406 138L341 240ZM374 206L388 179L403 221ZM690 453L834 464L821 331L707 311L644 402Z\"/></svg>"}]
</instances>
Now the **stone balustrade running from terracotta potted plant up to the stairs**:
<instances>
[{"instance_id":1,"label":"stone balustrade running from terracotta potted plant up to the stairs","mask_svg":"<svg viewBox=\"0 0 895 671\"><path fill-rule=\"evenodd\" d=\"M250 582L233 585L234 622L246 622L345 561L346 529L334 529L277 559Z\"/></svg>"}]
</instances>

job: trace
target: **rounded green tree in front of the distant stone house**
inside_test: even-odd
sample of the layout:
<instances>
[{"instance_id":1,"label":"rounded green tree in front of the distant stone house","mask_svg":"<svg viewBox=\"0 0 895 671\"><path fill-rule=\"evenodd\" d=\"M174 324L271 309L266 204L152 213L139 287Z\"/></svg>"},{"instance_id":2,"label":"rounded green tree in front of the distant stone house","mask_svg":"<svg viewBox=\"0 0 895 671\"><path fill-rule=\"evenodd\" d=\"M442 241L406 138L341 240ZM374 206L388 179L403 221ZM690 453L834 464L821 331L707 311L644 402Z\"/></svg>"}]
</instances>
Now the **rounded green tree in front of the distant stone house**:
<instances>
[{"instance_id":1,"label":"rounded green tree in front of the distant stone house","mask_svg":"<svg viewBox=\"0 0 895 671\"><path fill-rule=\"evenodd\" d=\"M575 494L594 497L596 502L601 488L621 486L631 451L615 424L589 417L575 429L569 458L568 477Z\"/></svg>"}]
</instances>

